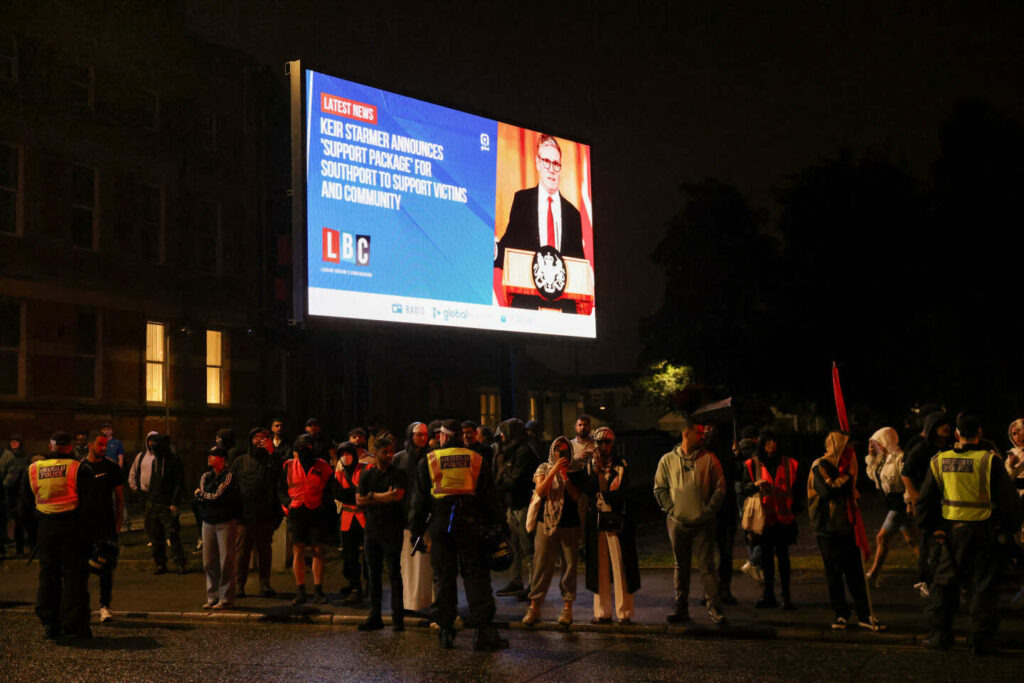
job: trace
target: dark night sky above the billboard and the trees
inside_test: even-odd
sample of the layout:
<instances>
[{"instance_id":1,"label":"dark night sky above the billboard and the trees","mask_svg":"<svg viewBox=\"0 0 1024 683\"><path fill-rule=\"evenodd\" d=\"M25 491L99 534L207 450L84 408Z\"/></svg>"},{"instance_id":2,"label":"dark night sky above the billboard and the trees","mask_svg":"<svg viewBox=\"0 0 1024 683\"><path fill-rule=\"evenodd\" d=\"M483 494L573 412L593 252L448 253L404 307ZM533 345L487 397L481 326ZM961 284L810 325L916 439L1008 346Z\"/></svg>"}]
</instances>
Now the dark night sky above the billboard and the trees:
<instances>
[{"instance_id":1,"label":"dark night sky above the billboard and the trees","mask_svg":"<svg viewBox=\"0 0 1024 683\"><path fill-rule=\"evenodd\" d=\"M599 342L581 347L583 372L633 368L681 183L717 177L771 210L772 187L842 147L924 175L957 99L1024 113L1020 3L188 4L193 30L274 69L302 58L590 142ZM531 350L571 371L573 348Z\"/></svg>"}]
</instances>

